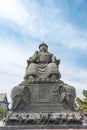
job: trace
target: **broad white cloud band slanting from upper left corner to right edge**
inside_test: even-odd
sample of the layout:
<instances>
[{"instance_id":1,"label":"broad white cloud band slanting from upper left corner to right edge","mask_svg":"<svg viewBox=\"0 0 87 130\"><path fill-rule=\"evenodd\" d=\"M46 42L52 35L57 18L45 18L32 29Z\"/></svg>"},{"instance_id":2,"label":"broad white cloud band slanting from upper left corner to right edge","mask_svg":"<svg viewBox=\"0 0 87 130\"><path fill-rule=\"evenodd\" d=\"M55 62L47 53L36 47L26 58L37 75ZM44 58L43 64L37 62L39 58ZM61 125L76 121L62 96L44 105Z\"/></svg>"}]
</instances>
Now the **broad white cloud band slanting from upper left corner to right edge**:
<instances>
[{"instance_id":1,"label":"broad white cloud band slanting from upper left corner to right edge","mask_svg":"<svg viewBox=\"0 0 87 130\"><path fill-rule=\"evenodd\" d=\"M86 49L87 32L66 21L62 9L56 8L53 1L51 6L53 10L48 4L42 9L42 6L36 2L29 1L27 6L19 0L0 0L0 17L21 26L24 36L27 34L42 40L50 40L51 37L54 42L67 47Z\"/></svg>"}]
</instances>

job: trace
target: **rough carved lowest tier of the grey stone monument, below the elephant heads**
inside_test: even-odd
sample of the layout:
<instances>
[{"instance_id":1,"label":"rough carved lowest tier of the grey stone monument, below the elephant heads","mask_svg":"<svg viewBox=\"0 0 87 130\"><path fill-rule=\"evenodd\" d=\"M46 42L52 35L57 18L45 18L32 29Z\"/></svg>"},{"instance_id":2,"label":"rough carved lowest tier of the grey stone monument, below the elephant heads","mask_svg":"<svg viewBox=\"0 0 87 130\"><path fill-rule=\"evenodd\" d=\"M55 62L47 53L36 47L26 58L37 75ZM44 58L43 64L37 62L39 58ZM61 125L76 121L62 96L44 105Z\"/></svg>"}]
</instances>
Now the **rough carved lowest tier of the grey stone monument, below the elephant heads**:
<instances>
[{"instance_id":1,"label":"rough carved lowest tier of the grey stone monument, below the elephant heads","mask_svg":"<svg viewBox=\"0 0 87 130\"><path fill-rule=\"evenodd\" d=\"M6 125L48 126L48 125L81 125L79 113L17 113L14 112L5 119Z\"/></svg>"}]
</instances>

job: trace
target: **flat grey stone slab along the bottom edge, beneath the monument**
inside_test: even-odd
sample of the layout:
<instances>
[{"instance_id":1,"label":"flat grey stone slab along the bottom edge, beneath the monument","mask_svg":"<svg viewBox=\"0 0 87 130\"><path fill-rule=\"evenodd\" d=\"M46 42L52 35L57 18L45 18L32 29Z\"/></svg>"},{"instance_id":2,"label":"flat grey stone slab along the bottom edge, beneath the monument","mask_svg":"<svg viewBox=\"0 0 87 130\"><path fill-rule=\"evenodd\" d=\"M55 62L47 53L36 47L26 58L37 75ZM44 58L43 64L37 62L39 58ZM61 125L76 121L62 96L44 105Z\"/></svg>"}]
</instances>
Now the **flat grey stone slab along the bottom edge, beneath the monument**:
<instances>
[{"instance_id":1,"label":"flat grey stone slab along the bottom edge, beneath the monument","mask_svg":"<svg viewBox=\"0 0 87 130\"><path fill-rule=\"evenodd\" d=\"M0 130L87 130L87 126L82 125L30 125L30 126L4 126Z\"/></svg>"}]
</instances>

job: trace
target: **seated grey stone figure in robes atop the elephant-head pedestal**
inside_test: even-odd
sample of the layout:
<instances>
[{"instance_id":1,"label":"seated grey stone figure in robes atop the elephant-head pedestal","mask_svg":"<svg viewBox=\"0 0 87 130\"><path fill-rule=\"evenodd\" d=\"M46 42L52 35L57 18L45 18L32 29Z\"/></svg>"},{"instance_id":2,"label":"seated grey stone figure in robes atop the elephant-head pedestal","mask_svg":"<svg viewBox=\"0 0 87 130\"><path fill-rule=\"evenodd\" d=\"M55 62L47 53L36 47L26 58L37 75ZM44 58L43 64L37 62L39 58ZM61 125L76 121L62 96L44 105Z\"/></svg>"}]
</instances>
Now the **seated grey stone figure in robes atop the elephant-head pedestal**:
<instances>
[{"instance_id":1,"label":"seated grey stone figure in robes atop the elephant-head pedestal","mask_svg":"<svg viewBox=\"0 0 87 130\"><path fill-rule=\"evenodd\" d=\"M55 77L60 79L58 70L60 60L48 52L48 46L45 43L39 45L39 51L36 51L32 57L27 60L25 79L37 78L47 79Z\"/></svg>"}]
</instances>

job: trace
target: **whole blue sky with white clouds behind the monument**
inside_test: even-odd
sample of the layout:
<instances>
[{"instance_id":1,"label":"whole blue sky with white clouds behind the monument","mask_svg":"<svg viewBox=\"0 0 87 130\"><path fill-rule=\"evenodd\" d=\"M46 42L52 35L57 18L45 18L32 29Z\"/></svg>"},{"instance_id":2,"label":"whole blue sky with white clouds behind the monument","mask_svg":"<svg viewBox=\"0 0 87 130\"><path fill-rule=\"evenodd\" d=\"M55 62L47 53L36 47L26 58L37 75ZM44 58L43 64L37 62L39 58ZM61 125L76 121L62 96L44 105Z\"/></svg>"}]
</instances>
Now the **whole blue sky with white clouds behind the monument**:
<instances>
[{"instance_id":1,"label":"whole blue sky with white clouds behind the monument","mask_svg":"<svg viewBox=\"0 0 87 130\"><path fill-rule=\"evenodd\" d=\"M0 0L0 93L23 81L26 60L45 42L61 80L87 90L87 0Z\"/></svg>"}]
</instances>

